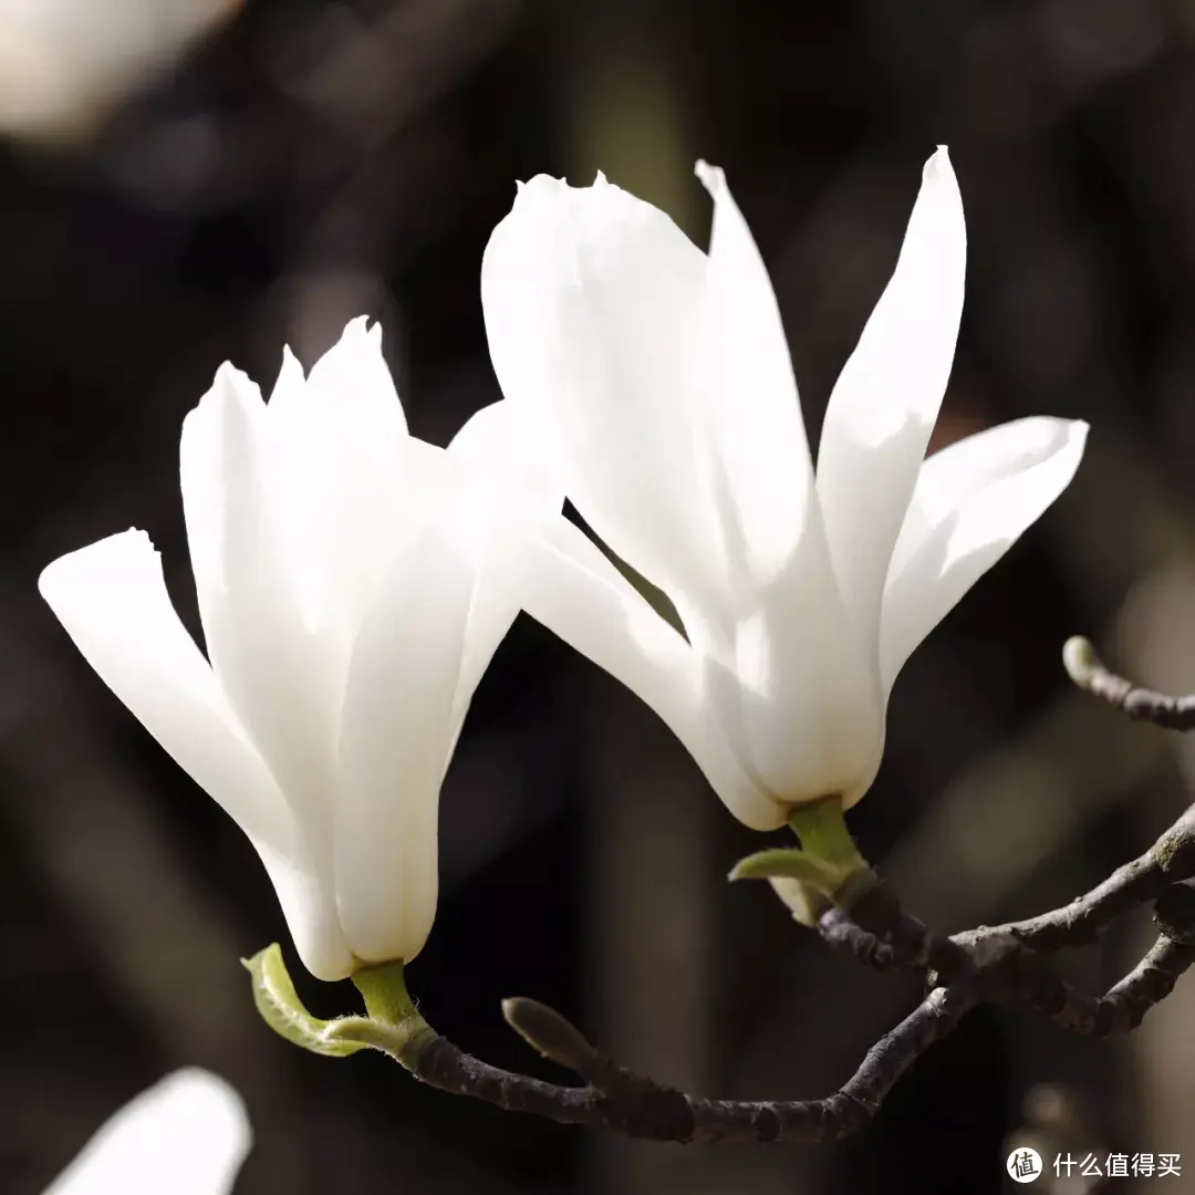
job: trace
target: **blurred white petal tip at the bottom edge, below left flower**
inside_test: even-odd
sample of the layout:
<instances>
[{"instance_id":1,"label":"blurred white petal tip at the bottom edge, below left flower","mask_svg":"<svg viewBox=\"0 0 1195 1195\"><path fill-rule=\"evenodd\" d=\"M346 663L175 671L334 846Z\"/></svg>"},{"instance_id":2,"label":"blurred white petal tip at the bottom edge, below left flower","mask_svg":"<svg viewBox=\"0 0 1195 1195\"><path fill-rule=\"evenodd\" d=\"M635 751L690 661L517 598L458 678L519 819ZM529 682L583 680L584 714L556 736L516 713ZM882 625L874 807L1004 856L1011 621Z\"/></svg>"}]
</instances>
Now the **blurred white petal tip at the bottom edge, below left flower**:
<instances>
[{"instance_id":1,"label":"blurred white petal tip at the bottom edge, below left flower","mask_svg":"<svg viewBox=\"0 0 1195 1195\"><path fill-rule=\"evenodd\" d=\"M223 1079L176 1071L100 1126L45 1195L227 1195L251 1144Z\"/></svg>"}]
</instances>

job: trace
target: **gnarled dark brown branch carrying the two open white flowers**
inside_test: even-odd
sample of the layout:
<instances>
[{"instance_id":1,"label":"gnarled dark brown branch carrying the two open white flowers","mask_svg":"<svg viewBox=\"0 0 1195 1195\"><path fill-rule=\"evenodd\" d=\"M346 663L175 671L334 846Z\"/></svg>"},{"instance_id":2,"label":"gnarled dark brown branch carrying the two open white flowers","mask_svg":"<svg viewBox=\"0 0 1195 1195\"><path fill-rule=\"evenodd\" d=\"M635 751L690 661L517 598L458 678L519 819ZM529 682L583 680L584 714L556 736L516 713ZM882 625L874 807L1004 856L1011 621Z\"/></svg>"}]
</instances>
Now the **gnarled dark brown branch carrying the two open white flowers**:
<instances>
[{"instance_id":1,"label":"gnarled dark brown branch carrying the two open white flowers","mask_svg":"<svg viewBox=\"0 0 1195 1195\"><path fill-rule=\"evenodd\" d=\"M1113 678L1115 680L1115 678ZM1093 682L1092 691L1099 685ZM1195 809L1103 883L1061 908L1023 921L945 937L906 914L875 887L832 908L817 932L876 970L912 970L932 987L921 1004L869 1052L854 1076L823 1099L704 1099L619 1066L576 1027L534 1000L503 1003L511 1027L582 1086L501 1071L430 1029L388 1048L417 1078L454 1095L568 1124L613 1129L656 1141L833 1141L871 1120L909 1066L980 1001L1028 1009L1073 1032L1104 1037L1135 1029L1195 966ZM1154 902L1158 939L1104 995L1066 983L1049 955L1096 940L1130 908ZM375 1043L372 1043L375 1044Z\"/></svg>"}]
</instances>

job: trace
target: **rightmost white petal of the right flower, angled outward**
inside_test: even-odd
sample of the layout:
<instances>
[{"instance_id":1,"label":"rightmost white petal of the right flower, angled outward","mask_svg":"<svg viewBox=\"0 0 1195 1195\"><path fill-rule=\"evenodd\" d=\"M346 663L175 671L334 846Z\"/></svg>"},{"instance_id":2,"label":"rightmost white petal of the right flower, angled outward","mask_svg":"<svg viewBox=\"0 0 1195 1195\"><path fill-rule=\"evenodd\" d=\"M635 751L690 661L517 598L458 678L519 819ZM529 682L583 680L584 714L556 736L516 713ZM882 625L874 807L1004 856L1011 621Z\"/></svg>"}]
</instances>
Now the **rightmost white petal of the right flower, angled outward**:
<instances>
[{"instance_id":1,"label":"rightmost white petal of the right flower, angled outward","mask_svg":"<svg viewBox=\"0 0 1195 1195\"><path fill-rule=\"evenodd\" d=\"M884 590L885 692L925 636L1066 489L1086 435L1085 423L1017 419L925 462Z\"/></svg>"}]
</instances>

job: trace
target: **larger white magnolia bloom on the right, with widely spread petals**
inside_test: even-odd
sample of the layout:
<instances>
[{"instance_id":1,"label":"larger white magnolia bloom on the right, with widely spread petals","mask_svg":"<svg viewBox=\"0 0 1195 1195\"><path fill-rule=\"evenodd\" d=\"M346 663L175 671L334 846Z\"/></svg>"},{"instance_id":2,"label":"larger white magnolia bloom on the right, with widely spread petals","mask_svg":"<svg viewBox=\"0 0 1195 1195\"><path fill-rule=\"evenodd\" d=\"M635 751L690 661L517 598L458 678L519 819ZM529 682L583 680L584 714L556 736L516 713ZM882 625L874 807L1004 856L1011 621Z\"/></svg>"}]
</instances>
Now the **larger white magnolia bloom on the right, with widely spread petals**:
<instances>
[{"instance_id":1,"label":"larger white magnolia bloom on the right, with widely spread petals","mask_svg":"<svg viewBox=\"0 0 1195 1195\"><path fill-rule=\"evenodd\" d=\"M601 176L540 176L495 229L482 298L507 402L686 637L568 527L531 553L526 608L652 705L764 829L868 790L896 674L1066 488L1086 425L1019 419L923 462L963 302L940 149L834 387L815 476L764 264L722 172L697 172L709 255Z\"/></svg>"}]
</instances>

